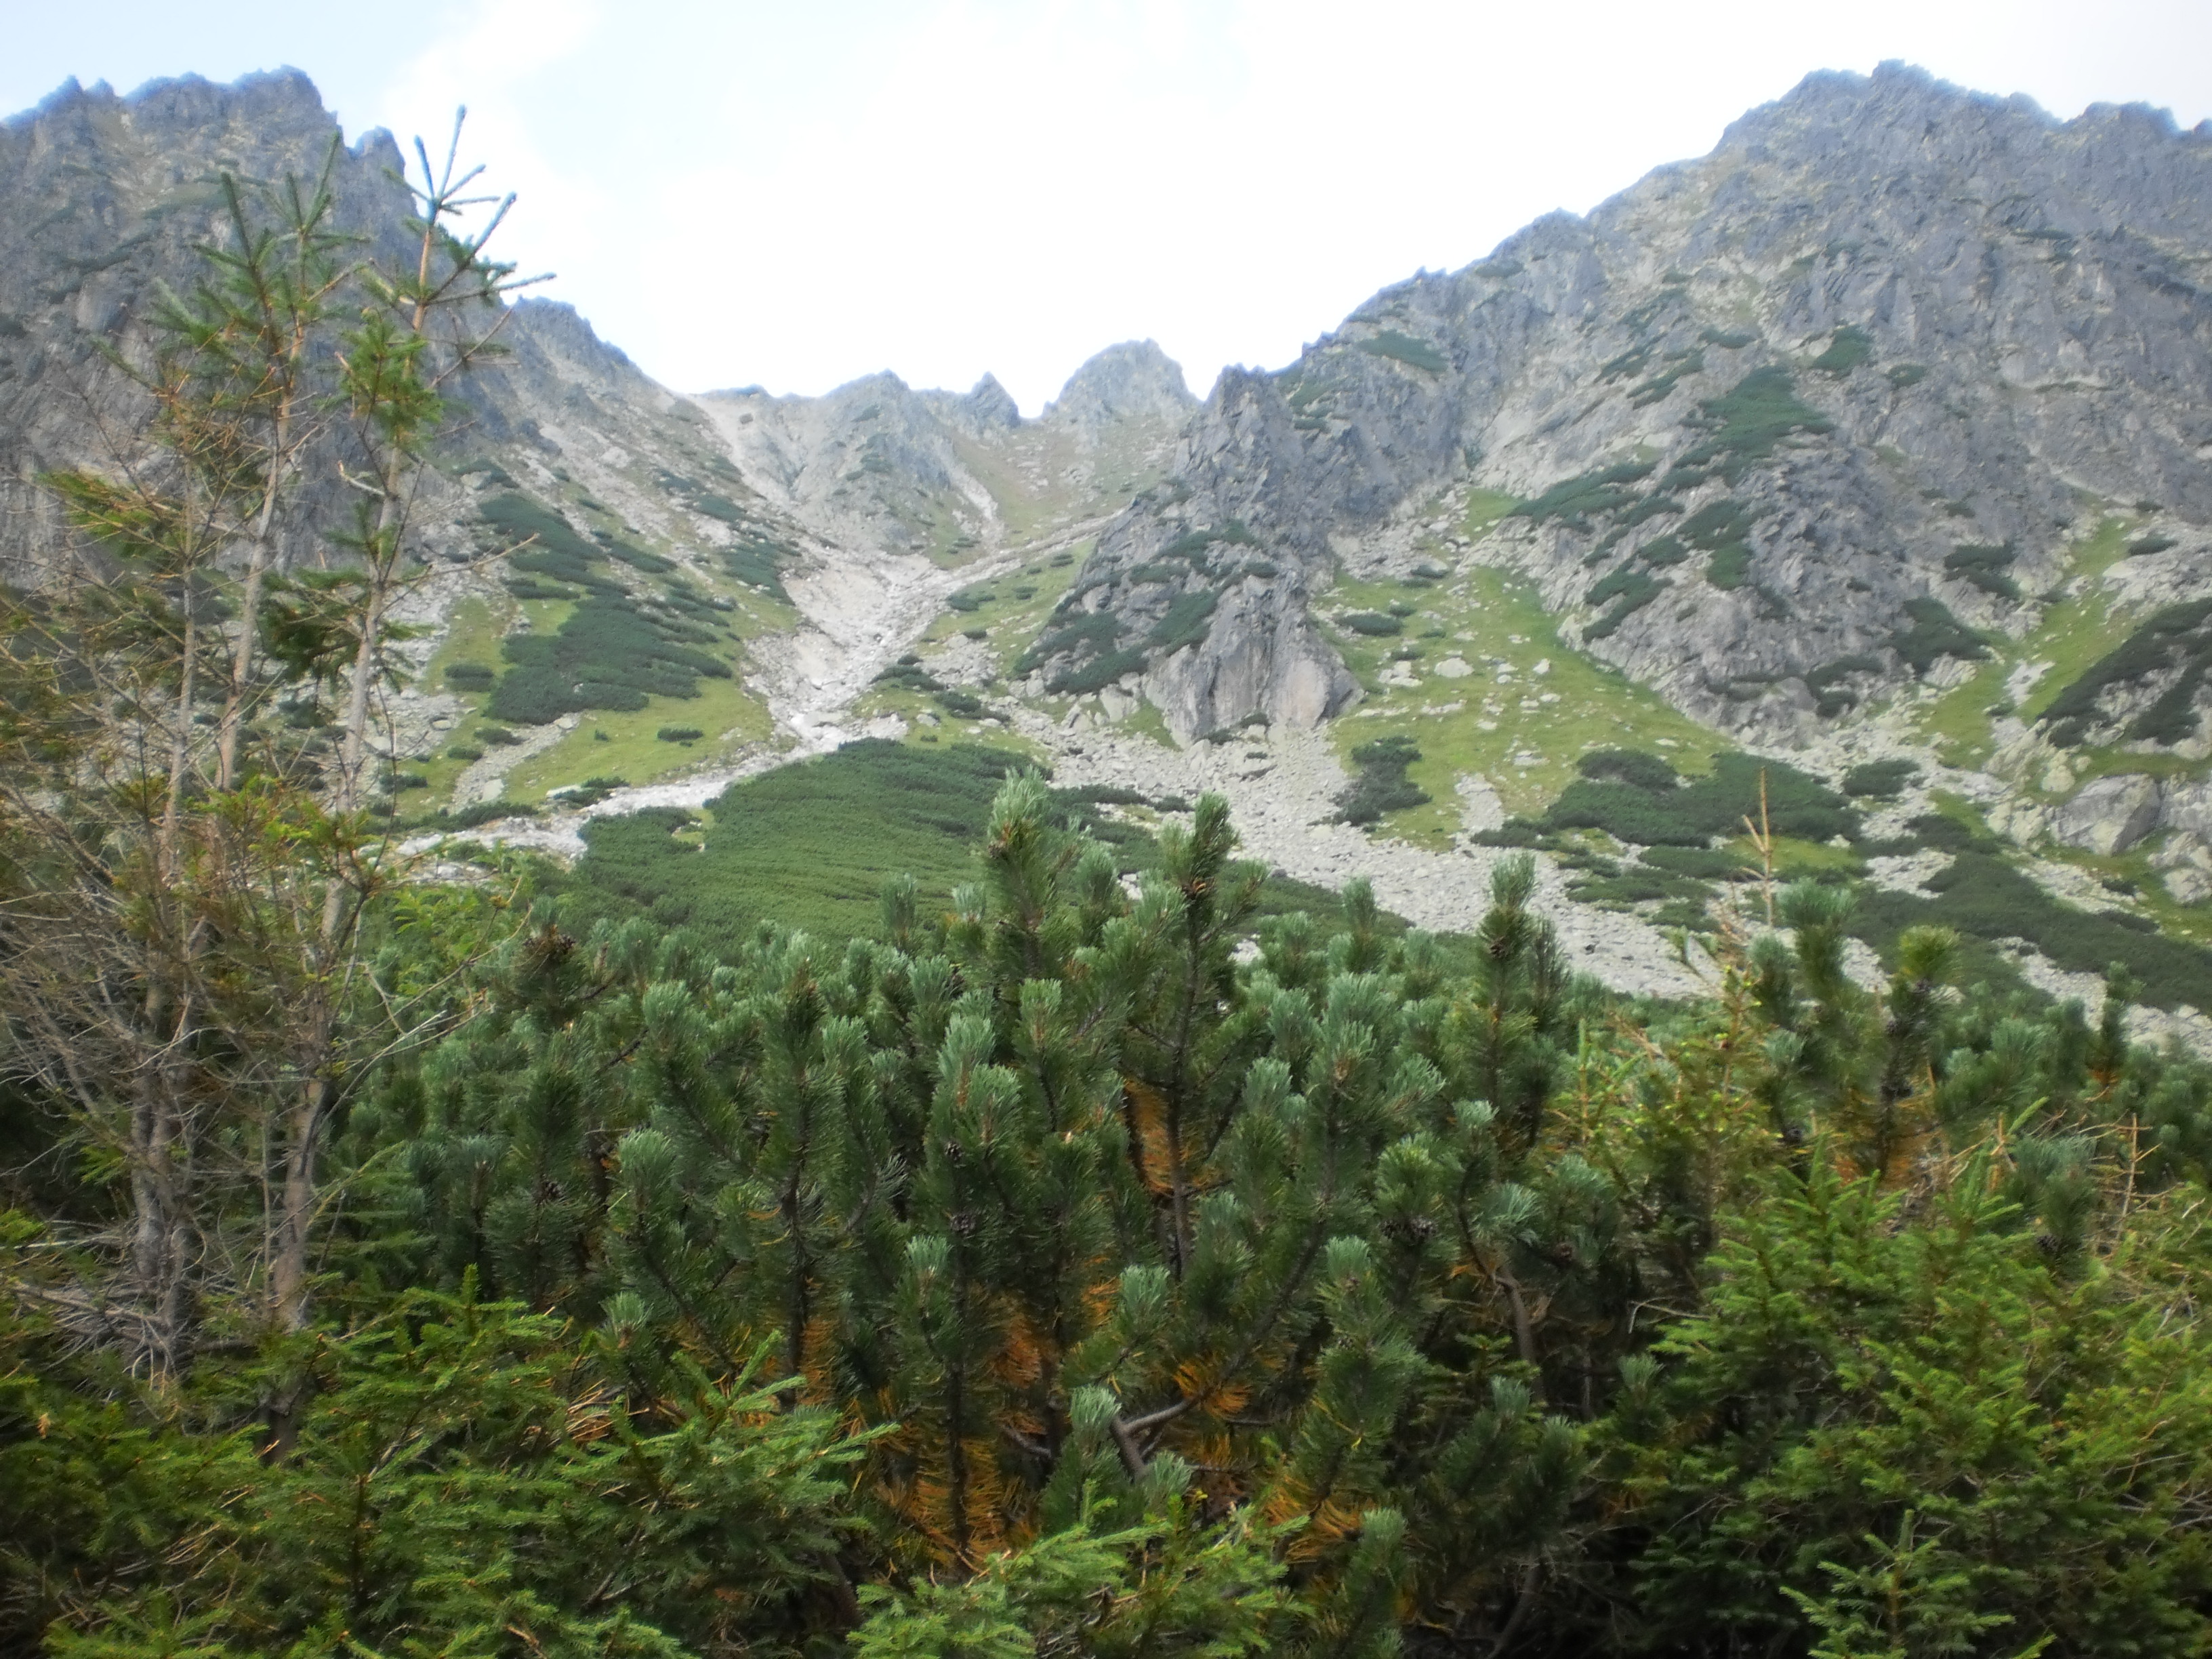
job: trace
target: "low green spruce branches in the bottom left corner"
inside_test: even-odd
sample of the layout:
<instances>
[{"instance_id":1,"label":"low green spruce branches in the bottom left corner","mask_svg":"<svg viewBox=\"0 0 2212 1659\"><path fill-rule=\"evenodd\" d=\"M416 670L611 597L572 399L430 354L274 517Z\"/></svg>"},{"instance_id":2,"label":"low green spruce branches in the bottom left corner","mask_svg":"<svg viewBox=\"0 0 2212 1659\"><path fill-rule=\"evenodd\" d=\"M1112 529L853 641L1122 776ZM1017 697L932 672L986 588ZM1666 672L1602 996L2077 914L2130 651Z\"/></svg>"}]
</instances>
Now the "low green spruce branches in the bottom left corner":
<instances>
[{"instance_id":1,"label":"low green spruce branches in the bottom left corner","mask_svg":"<svg viewBox=\"0 0 2212 1659\"><path fill-rule=\"evenodd\" d=\"M58 1652L407 1652L431 1630L440 1652L675 1659L796 1628L849 1531L863 1447L757 1367L679 1365L639 1398L591 1334L462 1287L398 1296L312 1369L268 1462L252 1433L49 1418L33 1467L82 1482L75 1526L153 1546L69 1608ZM115 1484L124 1455L142 1473ZM15 1564L44 1542L13 1537Z\"/></svg>"}]
</instances>

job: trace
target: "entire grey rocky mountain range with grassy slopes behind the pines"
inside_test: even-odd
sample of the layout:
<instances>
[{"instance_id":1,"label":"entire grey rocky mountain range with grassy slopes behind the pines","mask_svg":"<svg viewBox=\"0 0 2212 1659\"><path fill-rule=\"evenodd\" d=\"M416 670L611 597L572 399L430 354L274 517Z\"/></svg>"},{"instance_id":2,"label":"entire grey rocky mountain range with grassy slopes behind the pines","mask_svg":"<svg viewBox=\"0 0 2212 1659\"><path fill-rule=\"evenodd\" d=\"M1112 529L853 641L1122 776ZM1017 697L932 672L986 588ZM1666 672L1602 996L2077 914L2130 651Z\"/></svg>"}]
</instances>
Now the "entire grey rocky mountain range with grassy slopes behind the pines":
<instances>
[{"instance_id":1,"label":"entire grey rocky mountain range with grassy slopes behind the pines","mask_svg":"<svg viewBox=\"0 0 2212 1659\"><path fill-rule=\"evenodd\" d=\"M314 173L334 131L296 73L0 128L9 582L42 478L144 451L115 356L217 175ZM341 153L341 223L403 221L398 168ZM1438 933L1531 849L1628 991L1697 991L1812 876L1860 885L1863 978L1947 922L2057 995L2119 960L2137 1035L2212 1044L2212 131L1814 75L1203 403L1152 343L1022 418L991 378L679 394L546 301L498 338L414 520L409 845L743 925L741 876L648 852L734 869L792 765L1035 761L1133 832L1225 792L1281 876ZM823 914L911 854L821 874Z\"/></svg>"}]
</instances>

